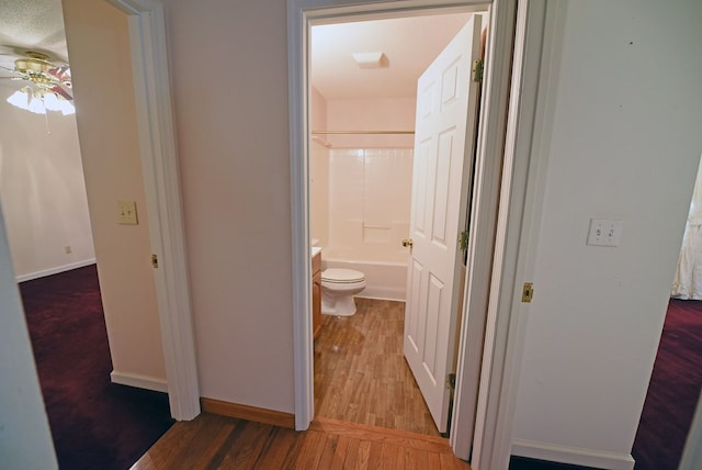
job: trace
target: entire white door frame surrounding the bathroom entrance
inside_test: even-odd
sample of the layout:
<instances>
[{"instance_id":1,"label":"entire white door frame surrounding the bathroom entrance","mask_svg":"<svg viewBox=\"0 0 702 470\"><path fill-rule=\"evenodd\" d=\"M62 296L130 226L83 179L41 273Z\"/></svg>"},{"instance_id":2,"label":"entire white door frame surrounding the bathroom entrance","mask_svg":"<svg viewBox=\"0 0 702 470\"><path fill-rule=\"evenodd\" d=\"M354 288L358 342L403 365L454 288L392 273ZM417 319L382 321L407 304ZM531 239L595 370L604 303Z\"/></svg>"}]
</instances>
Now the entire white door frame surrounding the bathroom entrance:
<instances>
[{"instance_id":1,"label":"entire white door frame surrounding the bathroom entrance","mask_svg":"<svg viewBox=\"0 0 702 470\"><path fill-rule=\"evenodd\" d=\"M539 198L533 179L543 174L532 156L531 136L535 126L536 101L542 68L544 31L557 22L545 23L545 0L288 0L288 119L291 157L291 230L293 279L293 334L295 377L295 427L306 429L314 418L314 372L310 320L309 266L309 121L307 54L310 22L319 19L359 14L397 14L411 10L462 9L488 4L490 26L486 60L482 132L476 159L476 231L468 256L473 269L466 276L464 315L485 313L485 344L479 372L476 419L465 422L469 413L466 395L471 371L468 355L475 354L475 323L463 322L458 352L456 400L451 424L451 447L456 456L468 459L476 470L507 468L511 448L513 409L521 363L525 304L520 303L521 282L531 275L535 254L529 250L537 236ZM512 56L513 54L513 56ZM513 77L512 77L513 76ZM511 79L511 88L510 88ZM489 105L486 105L489 103ZM547 126L546 126L547 128ZM485 158L485 155L503 156ZM533 166L537 171L529 172ZM541 169L539 169L541 168ZM530 184L528 184L528 182ZM494 250L478 247L494 246ZM487 251L487 253L482 253ZM480 277L479 273L487 273ZM475 428L475 434L473 429ZM473 435L472 435L473 434ZM472 435L472 437L469 437Z\"/></svg>"}]
</instances>

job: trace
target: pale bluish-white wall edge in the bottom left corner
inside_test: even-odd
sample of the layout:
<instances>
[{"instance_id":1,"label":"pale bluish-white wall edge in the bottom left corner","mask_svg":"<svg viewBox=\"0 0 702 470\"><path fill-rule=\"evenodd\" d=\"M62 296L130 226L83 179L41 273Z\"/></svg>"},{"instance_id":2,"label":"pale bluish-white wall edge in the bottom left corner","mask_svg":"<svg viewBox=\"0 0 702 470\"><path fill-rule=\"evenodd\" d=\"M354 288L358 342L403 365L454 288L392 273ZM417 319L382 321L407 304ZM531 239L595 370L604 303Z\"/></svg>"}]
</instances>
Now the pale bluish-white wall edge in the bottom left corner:
<instances>
[{"instance_id":1,"label":"pale bluish-white wall edge in the bottom left corner","mask_svg":"<svg viewBox=\"0 0 702 470\"><path fill-rule=\"evenodd\" d=\"M56 469L30 335L0 213L0 468Z\"/></svg>"}]
</instances>

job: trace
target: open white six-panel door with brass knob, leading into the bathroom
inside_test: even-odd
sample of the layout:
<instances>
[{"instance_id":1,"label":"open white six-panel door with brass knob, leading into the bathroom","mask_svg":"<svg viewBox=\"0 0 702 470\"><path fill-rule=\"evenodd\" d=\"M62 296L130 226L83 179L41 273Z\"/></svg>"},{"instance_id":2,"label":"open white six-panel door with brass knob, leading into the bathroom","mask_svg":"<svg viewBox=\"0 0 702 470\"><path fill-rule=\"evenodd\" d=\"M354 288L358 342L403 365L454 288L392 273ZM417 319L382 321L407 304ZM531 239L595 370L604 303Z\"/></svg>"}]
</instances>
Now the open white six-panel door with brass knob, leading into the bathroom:
<instances>
[{"instance_id":1,"label":"open white six-panel door with brass knob, leading into the bathroom","mask_svg":"<svg viewBox=\"0 0 702 470\"><path fill-rule=\"evenodd\" d=\"M439 432L449 421L455 367L461 250L474 155L480 16L473 15L417 85L404 351Z\"/></svg>"}]
</instances>

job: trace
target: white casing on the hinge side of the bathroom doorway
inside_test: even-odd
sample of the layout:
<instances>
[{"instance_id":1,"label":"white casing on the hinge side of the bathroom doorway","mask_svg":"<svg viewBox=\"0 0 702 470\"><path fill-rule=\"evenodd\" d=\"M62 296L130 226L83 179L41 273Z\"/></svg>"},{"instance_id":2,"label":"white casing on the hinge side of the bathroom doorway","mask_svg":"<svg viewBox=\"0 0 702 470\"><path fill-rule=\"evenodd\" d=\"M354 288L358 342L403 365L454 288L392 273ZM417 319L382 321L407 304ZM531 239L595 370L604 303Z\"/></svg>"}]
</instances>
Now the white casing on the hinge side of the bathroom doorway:
<instances>
[{"instance_id":1,"label":"white casing on the hinge side of the bathroom doorway","mask_svg":"<svg viewBox=\"0 0 702 470\"><path fill-rule=\"evenodd\" d=\"M468 459L472 448L479 448L486 436L479 429L479 410L476 407L476 384L479 391L487 385L479 381L482 363L490 359L490 338L486 333L487 305L490 290L499 281L494 264L501 259L498 247L501 235L496 232L496 214L501 198L500 187L509 181L511 167L503 164L505 133L510 101L510 70L514 47L514 15L517 4L495 2L490 8L485 76L478 143L475 159L475 186L468 227L466 279L464 287L462 331L456 366L454 417L451 423L451 447L456 456ZM513 90L512 90L513 93ZM512 96L512 100L516 100ZM495 250L487 247L495 245ZM487 248L487 249L486 249ZM484 346L485 345L485 346ZM485 350L485 354L484 354ZM482 359L480 359L482 358ZM477 469L475 465L472 468ZM485 469L498 467L485 466Z\"/></svg>"}]
</instances>

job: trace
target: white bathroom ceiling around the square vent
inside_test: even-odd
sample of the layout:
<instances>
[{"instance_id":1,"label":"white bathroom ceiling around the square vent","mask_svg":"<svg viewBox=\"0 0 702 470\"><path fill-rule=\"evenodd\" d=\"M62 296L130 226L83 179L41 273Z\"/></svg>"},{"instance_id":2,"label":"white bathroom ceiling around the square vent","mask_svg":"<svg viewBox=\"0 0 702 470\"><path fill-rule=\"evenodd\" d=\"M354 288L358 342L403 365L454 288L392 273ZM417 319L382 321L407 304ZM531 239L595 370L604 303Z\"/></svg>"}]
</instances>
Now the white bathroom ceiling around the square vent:
<instances>
[{"instance_id":1,"label":"white bathroom ceiling around the square vent","mask_svg":"<svg viewBox=\"0 0 702 470\"><path fill-rule=\"evenodd\" d=\"M312 85L327 100L412 98L417 79L468 21L469 13L325 24L312 29ZM353 53L385 54L360 68Z\"/></svg>"}]
</instances>

